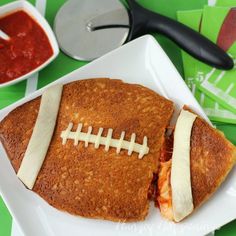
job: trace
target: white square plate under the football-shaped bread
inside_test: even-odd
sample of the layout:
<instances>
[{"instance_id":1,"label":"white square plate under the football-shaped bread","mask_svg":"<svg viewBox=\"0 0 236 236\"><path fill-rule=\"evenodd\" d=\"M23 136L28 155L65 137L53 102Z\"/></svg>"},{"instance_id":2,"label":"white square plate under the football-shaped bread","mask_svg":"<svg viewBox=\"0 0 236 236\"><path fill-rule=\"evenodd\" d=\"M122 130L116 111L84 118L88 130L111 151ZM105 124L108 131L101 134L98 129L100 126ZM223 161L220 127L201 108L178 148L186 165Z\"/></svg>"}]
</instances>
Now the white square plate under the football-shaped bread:
<instances>
[{"instance_id":1,"label":"white square plate under the football-shaped bread","mask_svg":"<svg viewBox=\"0 0 236 236\"><path fill-rule=\"evenodd\" d=\"M206 118L169 58L151 36L132 41L54 83L91 77L122 78L129 83L142 84L175 101L177 108L187 104ZM42 92L43 89L2 110L0 120L9 111ZM236 217L236 169L219 191L182 223L164 220L151 204L145 221L125 224L75 217L54 209L17 179L2 147L0 156L0 193L25 236L199 236Z\"/></svg>"}]
</instances>

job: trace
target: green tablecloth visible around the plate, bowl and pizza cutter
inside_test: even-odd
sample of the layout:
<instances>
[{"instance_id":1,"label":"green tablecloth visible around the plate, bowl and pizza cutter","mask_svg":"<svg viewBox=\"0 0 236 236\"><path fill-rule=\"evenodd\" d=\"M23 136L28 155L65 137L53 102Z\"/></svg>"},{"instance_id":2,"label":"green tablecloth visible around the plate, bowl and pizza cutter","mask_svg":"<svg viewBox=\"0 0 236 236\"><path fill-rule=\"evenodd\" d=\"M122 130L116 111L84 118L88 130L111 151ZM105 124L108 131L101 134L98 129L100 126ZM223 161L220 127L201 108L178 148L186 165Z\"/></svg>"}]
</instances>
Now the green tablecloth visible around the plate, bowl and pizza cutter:
<instances>
[{"instance_id":1,"label":"green tablecloth visible around the plate, bowl and pizza cutter","mask_svg":"<svg viewBox=\"0 0 236 236\"><path fill-rule=\"evenodd\" d=\"M65 2L65 0L30 0L32 4L36 2L46 2L45 16L51 25L55 14L59 7ZM79 0L78 0L79 1ZM11 0L0 0L0 5L11 2ZM98 1L99 2L99 1ZM139 2L154 11L163 13L172 18L176 18L177 10L188 10L202 8L204 4L207 4L207 0L139 0ZM161 36L156 36L162 47L165 49L173 63L176 65L179 72L182 74L182 60L180 50L168 39ZM86 62L75 61L70 59L63 53L60 53L57 59L42 70L38 75L37 88L41 88L46 84L60 78L61 76L75 70ZM0 109L17 101L18 99L25 96L26 81L23 81L14 86L0 89ZM219 129L225 132L226 136L236 143L236 126L235 125L224 125L218 126ZM1 174L0 174L1 177ZM212 214L215 214L213 212ZM221 213L217 213L221 214ZM206 219L207 220L207 219ZM10 236L11 234L12 218L0 199L0 236ZM233 236L236 235L236 221L222 227L216 231L216 235ZM31 235L30 235L31 236Z\"/></svg>"}]
</instances>

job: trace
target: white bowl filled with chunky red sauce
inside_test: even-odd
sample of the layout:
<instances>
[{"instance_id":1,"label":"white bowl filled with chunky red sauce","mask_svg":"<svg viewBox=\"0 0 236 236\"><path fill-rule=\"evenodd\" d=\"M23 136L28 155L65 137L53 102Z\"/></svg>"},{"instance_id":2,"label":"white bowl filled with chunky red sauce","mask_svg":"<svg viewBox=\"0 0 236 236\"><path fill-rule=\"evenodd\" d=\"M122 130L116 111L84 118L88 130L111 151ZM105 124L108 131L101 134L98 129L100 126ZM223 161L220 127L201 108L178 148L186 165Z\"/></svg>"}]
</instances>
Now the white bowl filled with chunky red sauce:
<instances>
[{"instance_id":1,"label":"white bowl filled with chunky red sauce","mask_svg":"<svg viewBox=\"0 0 236 236\"><path fill-rule=\"evenodd\" d=\"M45 18L27 1L0 7L0 87L22 81L38 72L59 53L55 35Z\"/></svg>"}]
</instances>

